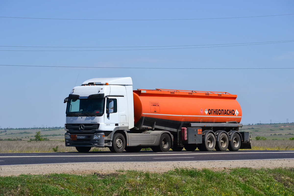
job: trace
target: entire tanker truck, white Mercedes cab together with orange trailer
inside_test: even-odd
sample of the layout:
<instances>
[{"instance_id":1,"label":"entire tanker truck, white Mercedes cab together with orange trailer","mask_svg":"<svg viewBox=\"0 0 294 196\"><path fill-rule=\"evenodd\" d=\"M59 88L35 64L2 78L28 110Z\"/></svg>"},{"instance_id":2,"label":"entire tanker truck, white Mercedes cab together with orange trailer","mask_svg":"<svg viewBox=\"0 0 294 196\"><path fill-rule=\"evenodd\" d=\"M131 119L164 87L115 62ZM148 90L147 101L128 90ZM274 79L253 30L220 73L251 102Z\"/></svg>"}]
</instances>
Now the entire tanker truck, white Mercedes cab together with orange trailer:
<instances>
[{"instance_id":1,"label":"entire tanker truck, white Mercedes cab together with orange trailer","mask_svg":"<svg viewBox=\"0 0 294 196\"><path fill-rule=\"evenodd\" d=\"M130 77L93 78L72 89L66 106L65 145L86 153L151 148L167 152L250 149L242 110L227 92L137 89Z\"/></svg>"}]
</instances>

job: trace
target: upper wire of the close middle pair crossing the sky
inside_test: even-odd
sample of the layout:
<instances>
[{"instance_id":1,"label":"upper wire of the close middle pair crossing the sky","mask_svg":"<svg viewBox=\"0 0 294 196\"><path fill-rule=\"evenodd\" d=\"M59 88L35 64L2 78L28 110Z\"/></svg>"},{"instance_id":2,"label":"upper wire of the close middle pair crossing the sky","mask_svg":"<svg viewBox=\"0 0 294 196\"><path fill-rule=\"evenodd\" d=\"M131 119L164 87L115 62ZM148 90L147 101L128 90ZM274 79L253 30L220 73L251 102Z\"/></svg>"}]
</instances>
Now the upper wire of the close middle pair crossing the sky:
<instances>
[{"instance_id":1,"label":"upper wire of the close middle pair crossing the sky","mask_svg":"<svg viewBox=\"0 0 294 196\"><path fill-rule=\"evenodd\" d=\"M283 43L283 42L288 42L288 41L294 41L294 40L247 42L247 43L203 44L203 45L177 45L177 46L0 46L0 47L23 47L23 48L148 48L148 47L219 46L219 45L235 45L235 44L250 44L250 43Z\"/></svg>"}]
</instances>

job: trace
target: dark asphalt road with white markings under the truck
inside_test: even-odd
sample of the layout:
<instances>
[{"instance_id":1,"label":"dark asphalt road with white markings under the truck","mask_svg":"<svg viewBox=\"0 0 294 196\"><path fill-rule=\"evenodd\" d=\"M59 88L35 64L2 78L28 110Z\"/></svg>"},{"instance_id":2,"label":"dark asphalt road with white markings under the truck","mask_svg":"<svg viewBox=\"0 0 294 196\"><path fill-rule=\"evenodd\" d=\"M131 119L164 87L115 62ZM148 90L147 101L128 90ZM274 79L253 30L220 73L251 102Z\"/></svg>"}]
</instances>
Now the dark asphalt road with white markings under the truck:
<instances>
[{"instance_id":1,"label":"dark asphalt road with white markings under the truck","mask_svg":"<svg viewBox=\"0 0 294 196\"><path fill-rule=\"evenodd\" d=\"M286 150L239 150L237 152L173 152L154 153L0 153L0 165L26 165L50 163L88 162L164 162L164 161L228 161L228 160L275 160L294 159L294 151Z\"/></svg>"}]
</instances>

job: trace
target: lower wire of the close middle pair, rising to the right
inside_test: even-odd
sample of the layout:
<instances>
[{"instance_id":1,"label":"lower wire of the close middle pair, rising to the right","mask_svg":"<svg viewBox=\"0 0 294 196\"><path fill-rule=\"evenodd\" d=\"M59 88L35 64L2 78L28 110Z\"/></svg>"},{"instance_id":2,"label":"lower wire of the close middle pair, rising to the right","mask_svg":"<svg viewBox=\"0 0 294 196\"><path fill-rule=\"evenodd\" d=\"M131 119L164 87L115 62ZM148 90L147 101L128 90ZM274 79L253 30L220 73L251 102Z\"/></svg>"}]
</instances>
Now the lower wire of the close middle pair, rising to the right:
<instances>
[{"instance_id":1,"label":"lower wire of the close middle pair, rising to the right","mask_svg":"<svg viewBox=\"0 0 294 196\"><path fill-rule=\"evenodd\" d=\"M281 41L273 43L286 43L294 41ZM250 45L262 45L272 43L252 43L252 44L238 44L231 46L250 46ZM203 47L186 47L186 48L147 48L147 49L115 49L115 50L0 50L0 51L30 51L30 52L74 52L74 51L135 51L135 50L170 50L170 49L191 49L191 48L218 48L218 47L230 47L230 46L203 46Z\"/></svg>"}]
</instances>

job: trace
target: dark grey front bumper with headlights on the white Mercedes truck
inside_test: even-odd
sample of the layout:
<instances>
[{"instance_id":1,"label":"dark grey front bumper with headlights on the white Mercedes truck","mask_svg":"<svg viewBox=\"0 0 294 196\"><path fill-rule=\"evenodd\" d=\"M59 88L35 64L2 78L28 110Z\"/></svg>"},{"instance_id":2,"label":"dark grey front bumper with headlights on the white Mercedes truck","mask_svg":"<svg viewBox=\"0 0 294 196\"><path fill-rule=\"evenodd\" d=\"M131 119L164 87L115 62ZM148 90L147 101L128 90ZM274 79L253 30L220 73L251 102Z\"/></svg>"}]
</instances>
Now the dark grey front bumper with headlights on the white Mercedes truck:
<instances>
[{"instance_id":1,"label":"dark grey front bumper with headlights on the white Mercedes truck","mask_svg":"<svg viewBox=\"0 0 294 196\"><path fill-rule=\"evenodd\" d=\"M95 133L95 134L66 133L65 135L69 135L69 139L65 138L65 146L104 147L104 133ZM73 137L75 135L76 137ZM100 139L93 139L94 135L100 135ZM76 140L72 140L72 138L76 138Z\"/></svg>"}]
</instances>

